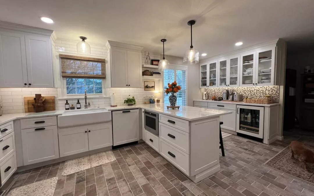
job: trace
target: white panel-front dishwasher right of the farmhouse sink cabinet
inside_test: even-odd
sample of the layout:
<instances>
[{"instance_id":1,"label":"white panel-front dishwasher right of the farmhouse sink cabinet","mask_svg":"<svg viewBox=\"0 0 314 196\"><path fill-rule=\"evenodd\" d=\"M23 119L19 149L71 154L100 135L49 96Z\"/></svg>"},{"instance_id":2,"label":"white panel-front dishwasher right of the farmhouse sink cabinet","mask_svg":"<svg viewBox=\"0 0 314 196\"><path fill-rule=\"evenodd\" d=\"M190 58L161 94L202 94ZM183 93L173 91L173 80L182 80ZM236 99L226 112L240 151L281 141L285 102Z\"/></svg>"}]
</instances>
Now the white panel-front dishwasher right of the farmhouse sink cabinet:
<instances>
[{"instance_id":1,"label":"white panel-front dishwasher right of the farmhouse sink cabinet","mask_svg":"<svg viewBox=\"0 0 314 196\"><path fill-rule=\"evenodd\" d=\"M112 111L113 146L139 140L139 110Z\"/></svg>"}]
</instances>

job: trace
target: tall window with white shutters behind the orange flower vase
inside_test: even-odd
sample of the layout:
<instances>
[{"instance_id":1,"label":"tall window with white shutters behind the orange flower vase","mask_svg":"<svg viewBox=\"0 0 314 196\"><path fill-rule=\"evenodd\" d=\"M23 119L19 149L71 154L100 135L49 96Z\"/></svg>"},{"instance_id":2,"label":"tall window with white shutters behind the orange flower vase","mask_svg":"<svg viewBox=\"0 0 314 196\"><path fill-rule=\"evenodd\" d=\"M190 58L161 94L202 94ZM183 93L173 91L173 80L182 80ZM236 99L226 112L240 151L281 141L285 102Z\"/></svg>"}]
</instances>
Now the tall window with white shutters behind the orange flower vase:
<instances>
[{"instance_id":1,"label":"tall window with white shutters behind the orange flower vase","mask_svg":"<svg viewBox=\"0 0 314 196\"><path fill-rule=\"evenodd\" d=\"M168 87L168 83L174 80L181 86L181 90L175 93L177 96L177 105L187 105L187 67L186 66L169 66L169 69L164 71L164 92ZM164 93L164 103L169 103L169 96L171 94Z\"/></svg>"}]
</instances>

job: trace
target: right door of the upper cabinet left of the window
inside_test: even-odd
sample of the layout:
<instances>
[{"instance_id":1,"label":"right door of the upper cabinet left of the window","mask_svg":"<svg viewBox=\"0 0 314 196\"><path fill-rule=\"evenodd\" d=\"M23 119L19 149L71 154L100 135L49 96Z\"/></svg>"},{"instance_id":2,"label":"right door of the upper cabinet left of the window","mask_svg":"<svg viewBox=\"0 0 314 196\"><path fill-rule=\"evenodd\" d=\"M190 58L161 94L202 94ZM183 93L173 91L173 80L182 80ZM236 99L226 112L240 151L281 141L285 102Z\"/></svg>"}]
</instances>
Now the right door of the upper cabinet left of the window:
<instances>
[{"instance_id":1,"label":"right door of the upper cabinet left of the window","mask_svg":"<svg viewBox=\"0 0 314 196\"><path fill-rule=\"evenodd\" d=\"M49 38L25 35L29 87L53 87Z\"/></svg>"}]
</instances>

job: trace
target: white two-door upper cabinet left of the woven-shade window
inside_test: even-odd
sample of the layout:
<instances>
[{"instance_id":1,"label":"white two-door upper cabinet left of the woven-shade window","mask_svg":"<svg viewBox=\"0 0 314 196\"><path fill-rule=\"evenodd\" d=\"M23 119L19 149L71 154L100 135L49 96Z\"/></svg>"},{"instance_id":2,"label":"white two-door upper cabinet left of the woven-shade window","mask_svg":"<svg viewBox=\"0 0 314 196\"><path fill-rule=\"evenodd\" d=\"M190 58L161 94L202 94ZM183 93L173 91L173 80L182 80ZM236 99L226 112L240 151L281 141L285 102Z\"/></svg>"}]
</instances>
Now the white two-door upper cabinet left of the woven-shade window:
<instances>
[{"instance_id":1,"label":"white two-door upper cabinet left of the woven-shade window","mask_svg":"<svg viewBox=\"0 0 314 196\"><path fill-rule=\"evenodd\" d=\"M49 36L0 31L0 87L53 87Z\"/></svg>"}]
</instances>

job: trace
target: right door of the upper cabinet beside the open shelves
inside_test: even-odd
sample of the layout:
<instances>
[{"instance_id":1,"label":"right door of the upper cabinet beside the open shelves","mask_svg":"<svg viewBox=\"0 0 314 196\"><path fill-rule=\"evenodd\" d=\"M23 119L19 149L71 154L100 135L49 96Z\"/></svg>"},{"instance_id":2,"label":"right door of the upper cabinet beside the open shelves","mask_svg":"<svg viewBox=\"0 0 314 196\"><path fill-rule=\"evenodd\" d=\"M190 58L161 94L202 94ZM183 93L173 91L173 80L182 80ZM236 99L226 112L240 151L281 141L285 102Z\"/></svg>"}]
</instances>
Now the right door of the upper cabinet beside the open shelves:
<instances>
[{"instance_id":1,"label":"right door of the upper cabinet beside the open shelves","mask_svg":"<svg viewBox=\"0 0 314 196\"><path fill-rule=\"evenodd\" d=\"M142 53L127 51L127 84L128 87L142 87Z\"/></svg>"}]
</instances>

